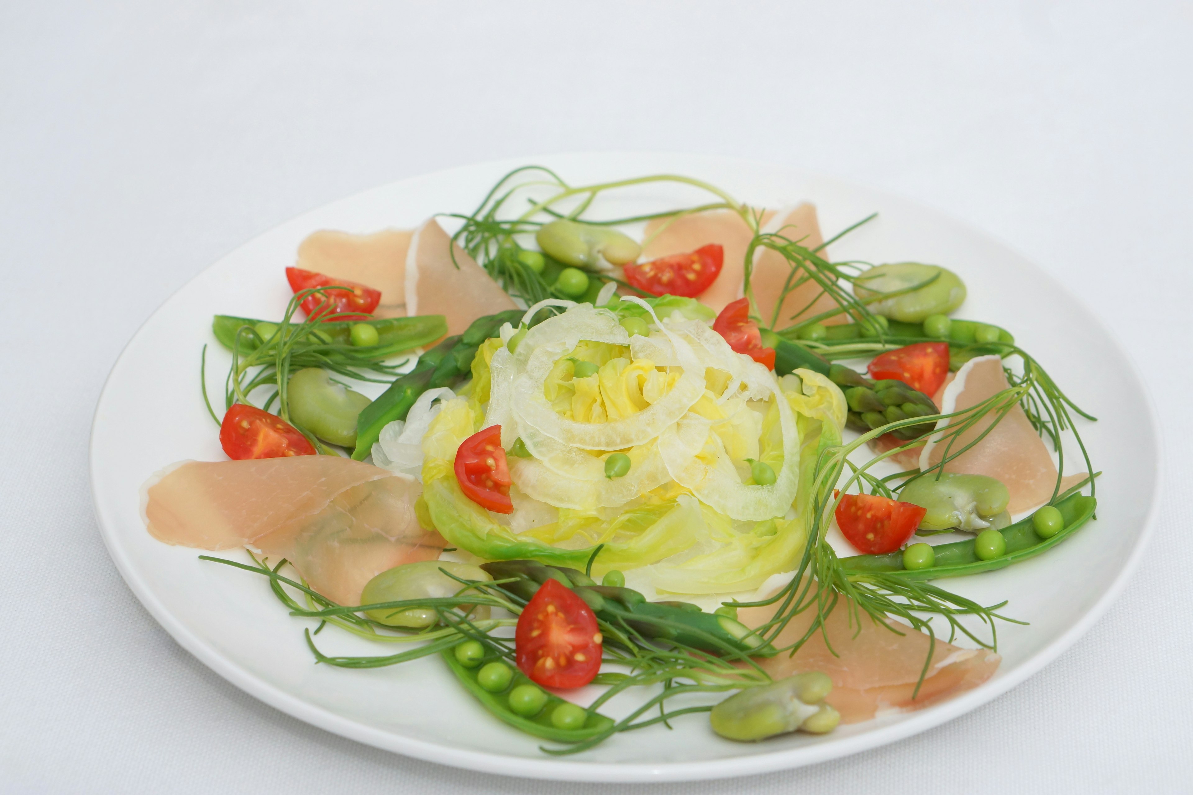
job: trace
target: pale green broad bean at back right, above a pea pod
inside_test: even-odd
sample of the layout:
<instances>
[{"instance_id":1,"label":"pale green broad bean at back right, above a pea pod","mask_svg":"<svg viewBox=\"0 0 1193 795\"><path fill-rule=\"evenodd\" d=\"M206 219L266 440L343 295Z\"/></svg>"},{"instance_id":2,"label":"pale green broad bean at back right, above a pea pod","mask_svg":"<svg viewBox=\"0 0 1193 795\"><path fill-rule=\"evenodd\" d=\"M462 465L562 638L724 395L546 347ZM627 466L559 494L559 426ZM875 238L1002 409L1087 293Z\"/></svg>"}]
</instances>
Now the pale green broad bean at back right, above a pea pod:
<instances>
[{"instance_id":1,"label":"pale green broad bean at back right, above a pea pod","mask_svg":"<svg viewBox=\"0 0 1193 795\"><path fill-rule=\"evenodd\" d=\"M871 268L854 280L853 292L866 300L915 285L923 286L873 302L870 311L892 321L922 323L929 315L948 315L965 300L965 284L956 273L920 262L892 262Z\"/></svg>"}]
</instances>

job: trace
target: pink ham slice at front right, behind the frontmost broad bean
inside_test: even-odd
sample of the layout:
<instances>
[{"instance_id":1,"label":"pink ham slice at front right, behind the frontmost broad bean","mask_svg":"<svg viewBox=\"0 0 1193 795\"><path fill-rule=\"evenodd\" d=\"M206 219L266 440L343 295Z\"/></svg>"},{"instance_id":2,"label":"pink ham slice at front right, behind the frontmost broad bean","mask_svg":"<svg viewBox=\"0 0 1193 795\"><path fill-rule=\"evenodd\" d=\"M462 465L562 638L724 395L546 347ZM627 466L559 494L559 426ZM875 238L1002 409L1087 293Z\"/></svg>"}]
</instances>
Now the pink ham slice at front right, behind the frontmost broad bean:
<instances>
[{"instance_id":1,"label":"pink ham slice at front right, behind the frontmost broad bean","mask_svg":"<svg viewBox=\"0 0 1193 795\"><path fill-rule=\"evenodd\" d=\"M804 610L792 619L775 645L790 645L802 638L811 626L811 609ZM748 627L758 627L773 614L773 607L761 607L743 608L737 615ZM846 723L891 710L923 709L971 690L989 679L1002 659L988 650L960 648L938 639L928 673L913 697L932 644L928 635L891 620L890 625L903 633L895 634L876 625L865 613L861 613L861 632L857 632L857 625L849 623L849 604L843 597L824 623L836 654L817 632L795 657L783 653L758 663L774 678L804 671L828 675L833 679L828 702L841 713Z\"/></svg>"}]
</instances>

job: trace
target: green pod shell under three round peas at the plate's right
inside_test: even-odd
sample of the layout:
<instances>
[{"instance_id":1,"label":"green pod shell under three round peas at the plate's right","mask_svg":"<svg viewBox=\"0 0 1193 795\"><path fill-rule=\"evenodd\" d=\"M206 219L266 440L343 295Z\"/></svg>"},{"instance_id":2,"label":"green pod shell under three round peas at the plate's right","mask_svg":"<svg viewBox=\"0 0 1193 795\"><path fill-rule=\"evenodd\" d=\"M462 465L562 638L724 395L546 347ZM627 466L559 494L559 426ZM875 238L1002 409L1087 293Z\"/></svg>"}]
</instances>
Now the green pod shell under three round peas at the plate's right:
<instances>
[{"instance_id":1,"label":"green pod shell under three round peas at the plate's right","mask_svg":"<svg viewBox=\"0 0 1193 795\"><path fill-rule=\"evenodd\" d=\"M983 571L1005 569L1013 563L1034 558L1076 533L1094 515L1096 507L1096 499L1080 493L1061 499L1055 504L1055 508L1061 511L1061 516L1064 518L1064 529L1047 539L1036 532L1032 517L1030 516L997 530L1006 541L1006 552L991 560L978 558L973 541L957 541L954 544L939 544L934 546L935 564L928 569L904 569L902 552L892 552L884 555L842 558L841 566L848 573L854 574L888 572L898 573L909 579L963 577L965 574L977 574Z\"/></svg>"}]
</instances>

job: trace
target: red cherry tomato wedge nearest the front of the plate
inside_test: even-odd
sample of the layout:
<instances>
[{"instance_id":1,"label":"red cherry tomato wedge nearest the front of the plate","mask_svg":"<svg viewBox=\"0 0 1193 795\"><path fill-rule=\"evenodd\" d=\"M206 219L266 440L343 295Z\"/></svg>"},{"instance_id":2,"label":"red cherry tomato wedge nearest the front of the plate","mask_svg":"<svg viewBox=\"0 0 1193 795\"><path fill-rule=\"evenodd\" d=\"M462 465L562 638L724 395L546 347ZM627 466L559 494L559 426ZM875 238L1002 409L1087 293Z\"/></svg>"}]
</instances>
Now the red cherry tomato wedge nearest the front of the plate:
<instances>
[{"instance_id":1,"label":"red cherry tomato wedge nearest the front of the plate","mask_svg":"<svg viewBox=\"0 0 1193 795\"><path fill-rule=\"evenodd\" d=\"M514 629L518 667L546 688L581 688L600 671L601 634L582 598L558 580L543 583Z\"/></svg>"}]
</instances>

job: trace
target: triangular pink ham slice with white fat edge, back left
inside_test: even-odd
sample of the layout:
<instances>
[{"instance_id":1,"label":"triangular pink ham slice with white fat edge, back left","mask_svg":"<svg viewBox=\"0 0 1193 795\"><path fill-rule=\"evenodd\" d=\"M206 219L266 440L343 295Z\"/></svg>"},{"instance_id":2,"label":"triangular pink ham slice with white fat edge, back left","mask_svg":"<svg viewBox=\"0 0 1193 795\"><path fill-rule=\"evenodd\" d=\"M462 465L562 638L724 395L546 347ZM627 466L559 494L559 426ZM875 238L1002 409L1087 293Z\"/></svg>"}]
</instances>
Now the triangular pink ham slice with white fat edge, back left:
<instances>
[{"instance_id":1,"label":"triangular pink ham slice with white fat edge, back left","mask_svg":"<svg viewBox=\"0 0 1193 795\"><path fill-rule=\"evenodd\" d=\"M443 315L447 334L462 334L482 315L507 309L518 309L514 299L452 243L434 218L419 226L406 255L406 311L410 316Z\"/></svg>"}]
</instances>

